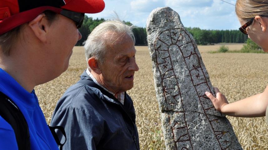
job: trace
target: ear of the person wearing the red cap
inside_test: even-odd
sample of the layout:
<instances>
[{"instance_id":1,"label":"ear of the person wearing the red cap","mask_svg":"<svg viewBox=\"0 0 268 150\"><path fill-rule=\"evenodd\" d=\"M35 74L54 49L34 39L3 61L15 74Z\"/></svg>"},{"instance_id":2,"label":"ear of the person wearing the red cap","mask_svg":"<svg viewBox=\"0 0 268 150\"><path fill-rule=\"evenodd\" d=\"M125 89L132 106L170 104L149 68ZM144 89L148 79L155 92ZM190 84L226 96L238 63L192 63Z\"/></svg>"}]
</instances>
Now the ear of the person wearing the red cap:
<instances>
[{"instance_id":1,"label":"ear of the person wearing the red cap","mask_svg":"<svg viewBox=\"0 0 268 150\"><path fill-rule=\"evenodd\" d=\"M41 13L35 19L28 23L34 34L41 42L46 42L46 34L48 32L49 23L45 19L45 14Z\"/></svg>"}]
</instances>

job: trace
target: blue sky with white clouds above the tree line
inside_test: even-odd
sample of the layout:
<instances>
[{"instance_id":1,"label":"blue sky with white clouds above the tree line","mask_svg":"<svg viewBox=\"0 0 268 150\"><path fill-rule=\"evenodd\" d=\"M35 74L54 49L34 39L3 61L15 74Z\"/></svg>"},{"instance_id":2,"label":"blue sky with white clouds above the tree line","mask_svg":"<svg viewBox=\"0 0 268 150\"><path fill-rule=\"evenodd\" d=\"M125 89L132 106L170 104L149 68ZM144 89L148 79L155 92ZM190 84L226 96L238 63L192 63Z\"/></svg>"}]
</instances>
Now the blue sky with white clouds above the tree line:
<instances>
[{"instance_id":1,"label":"blue sky with white clouds above the tree line","mask_svg":"<svg viewBox=\"0 0 268 150\"><path fill-rule=\"evenodd\" d=\"M235 4L236 0L225 0ZM240 23L235 6L221 0L104 0L105 9L95 18L112 19L114 11L121 20L145 27L150 12L157 7L168 6L177 11L185 27L210 30L238 30Z\"/></svg>"}]
</instances>

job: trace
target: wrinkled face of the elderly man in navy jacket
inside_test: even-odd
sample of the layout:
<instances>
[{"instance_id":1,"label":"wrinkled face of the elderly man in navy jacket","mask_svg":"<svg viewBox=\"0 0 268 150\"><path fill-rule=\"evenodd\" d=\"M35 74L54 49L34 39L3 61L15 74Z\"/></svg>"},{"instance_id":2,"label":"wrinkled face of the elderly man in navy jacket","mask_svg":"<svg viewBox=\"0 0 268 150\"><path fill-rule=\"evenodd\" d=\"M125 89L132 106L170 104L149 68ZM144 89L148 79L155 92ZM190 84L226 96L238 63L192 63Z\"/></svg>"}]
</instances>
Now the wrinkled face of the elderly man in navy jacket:
<instances>
[{"instance_id":1,"label":"wrinkled face of the elderly man in navy jacket","mask_svg":"<svg viewBox=\"0 0 268 150\"><path fill-rule=\"evenodd\" d=\"M139 70L135 61L136 49L129 34L107 33L113 35L107 46L101 76L105 87L116 93L125 92L133 87L134 73Z\"/></svg>"}]
</instances>

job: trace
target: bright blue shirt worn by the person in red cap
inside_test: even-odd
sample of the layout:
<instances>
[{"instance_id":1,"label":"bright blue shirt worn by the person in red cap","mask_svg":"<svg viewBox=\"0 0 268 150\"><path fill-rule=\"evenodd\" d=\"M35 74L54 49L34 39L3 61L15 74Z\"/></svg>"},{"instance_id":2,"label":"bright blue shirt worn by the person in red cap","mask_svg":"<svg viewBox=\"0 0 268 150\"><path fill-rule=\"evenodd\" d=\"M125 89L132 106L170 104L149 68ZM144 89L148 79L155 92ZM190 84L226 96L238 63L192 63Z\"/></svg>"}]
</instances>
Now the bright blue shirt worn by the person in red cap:
<instances>
[{"instance_id":1,"label":"bright blue shirt worn by the person in red cap","mask_svg":"<svg viewBox=\"0 0 268 150\"><path fill-rule=\"evenodd\" d=\"M11 98L22 111L29 126L31 149L58 150L34 90L29 93L0 68L0 91ZM2 149L17 150L18 147L14 130L0 116L0 150Z\"/></svg>"}]
</instances>

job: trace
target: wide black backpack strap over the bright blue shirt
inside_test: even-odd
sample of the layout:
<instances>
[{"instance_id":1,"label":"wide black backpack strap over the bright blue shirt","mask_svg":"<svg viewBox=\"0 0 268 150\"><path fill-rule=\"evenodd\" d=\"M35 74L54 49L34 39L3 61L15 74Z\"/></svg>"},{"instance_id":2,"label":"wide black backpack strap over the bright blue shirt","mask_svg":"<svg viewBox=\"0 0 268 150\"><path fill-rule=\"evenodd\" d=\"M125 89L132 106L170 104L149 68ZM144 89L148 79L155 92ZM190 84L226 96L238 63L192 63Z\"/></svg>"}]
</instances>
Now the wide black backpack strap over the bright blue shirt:
<instances>
[{"instance_id":1,"label":"wide black backpack strap over the bright blue shirt","mask_svg":"<svg viewBox=\"0 0 268 150\"><path fill-rule=\"evenodd\" d=\"M18 149L30 149L30 134L26 119L15 102L1 91L0 116L12 126L16 136Z\"/></svg>"}]
</instances>

